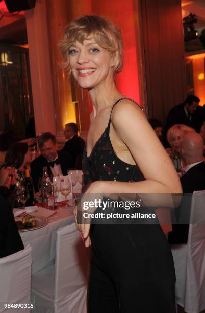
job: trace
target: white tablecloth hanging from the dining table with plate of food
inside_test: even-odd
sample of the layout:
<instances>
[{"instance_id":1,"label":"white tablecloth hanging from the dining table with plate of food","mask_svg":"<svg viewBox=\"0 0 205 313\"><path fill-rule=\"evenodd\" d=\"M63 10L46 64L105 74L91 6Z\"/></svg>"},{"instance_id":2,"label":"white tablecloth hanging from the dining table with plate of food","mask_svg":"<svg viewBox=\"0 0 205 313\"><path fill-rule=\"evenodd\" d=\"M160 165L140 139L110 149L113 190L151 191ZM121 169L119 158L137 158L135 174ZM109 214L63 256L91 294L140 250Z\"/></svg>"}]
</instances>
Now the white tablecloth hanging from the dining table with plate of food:
<instances>
[{"instance_id":1,"label":"white tablecloth hanging from the dining table with plate of food","mask_svg":"<svg viewBox=\"0 0 205 313\"><path fill-rule=\"evenodd\" d=\"M60 208L48 220L49 223L42 228L20 233L24 247L29 243L32 247L32 273L54 263L57 230L74 223L74 216L72 211Z\"/></svg>"}]
</instances>

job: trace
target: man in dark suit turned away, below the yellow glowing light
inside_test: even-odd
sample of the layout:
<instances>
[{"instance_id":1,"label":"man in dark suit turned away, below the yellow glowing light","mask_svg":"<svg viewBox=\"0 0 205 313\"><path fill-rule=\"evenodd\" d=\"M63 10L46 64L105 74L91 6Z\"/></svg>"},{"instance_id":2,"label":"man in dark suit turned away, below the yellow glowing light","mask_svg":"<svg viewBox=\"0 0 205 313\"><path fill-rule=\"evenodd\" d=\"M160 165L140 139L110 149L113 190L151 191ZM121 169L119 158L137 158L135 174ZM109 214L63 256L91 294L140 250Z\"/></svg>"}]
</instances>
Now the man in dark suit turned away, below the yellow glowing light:
<instances>
[{"instance_id":1,"label":"man in dark suit turned away, below the yellow glowing light","mask_svg":"<svg viewBox=\"0 0 205 313\"><path fill-rule=\"evenodd\" d=\"M81 169L85 141L78 136L78 125L75 123L66 124L64 135L68 141L66 141L65 146L61 151L69 152L75 162L74 168Z\"/></svg>"}]
</instances>

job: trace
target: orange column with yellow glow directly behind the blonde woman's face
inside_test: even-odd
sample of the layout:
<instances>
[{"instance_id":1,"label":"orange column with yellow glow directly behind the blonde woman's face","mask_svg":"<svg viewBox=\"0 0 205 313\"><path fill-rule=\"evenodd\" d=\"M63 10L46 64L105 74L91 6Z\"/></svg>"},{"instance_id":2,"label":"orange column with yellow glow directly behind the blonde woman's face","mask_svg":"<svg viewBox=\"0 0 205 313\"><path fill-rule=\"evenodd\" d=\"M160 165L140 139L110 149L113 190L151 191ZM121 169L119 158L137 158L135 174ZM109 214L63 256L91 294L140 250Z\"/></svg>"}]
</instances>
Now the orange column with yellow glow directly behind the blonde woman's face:
<instances>
[{"instance_id":1,"label":"orange column with yellow glow directly behind the blonde woman's face","mask_svg":"<svg viewBox=\"0 0 205 313\"><path fill-rule=\"evenodd\" d=\"M87 136L89 127L89 97L59 64L63 60L58 48L59 40L63 36L64 27L76 16L89 14L89 1L47 0L47 22L49 30L49 47L52 64L53 91L55 102L55 115L57 139L64 142L64 125L69 122L77 123L81 136Z\"/></svg>"}]
</instances>

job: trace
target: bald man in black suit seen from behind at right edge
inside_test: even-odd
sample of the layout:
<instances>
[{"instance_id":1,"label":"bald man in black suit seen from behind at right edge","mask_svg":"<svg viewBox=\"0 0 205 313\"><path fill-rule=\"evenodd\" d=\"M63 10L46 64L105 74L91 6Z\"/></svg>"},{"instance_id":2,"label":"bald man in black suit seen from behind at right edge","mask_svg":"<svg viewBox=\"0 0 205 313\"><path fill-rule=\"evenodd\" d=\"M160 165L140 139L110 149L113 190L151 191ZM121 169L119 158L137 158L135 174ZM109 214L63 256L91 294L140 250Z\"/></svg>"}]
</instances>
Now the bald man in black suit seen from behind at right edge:
<instances>
[{"instance_id":1,"label":"bald man in black suit seen from behind at right edge","mask_svg":"<svg viewBox=\"0 0 205 313\"><path fill-rule=\"evenodd\" d=\"M180 143L181 156L186 163L181 183L184 193L193 193L195 190L205 189L205 163L203 158L203 140L196 132L184 135Z\"/></svg>"}]
</instances>

